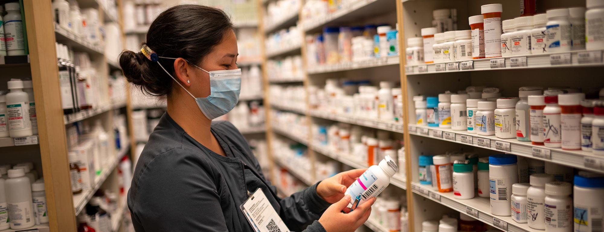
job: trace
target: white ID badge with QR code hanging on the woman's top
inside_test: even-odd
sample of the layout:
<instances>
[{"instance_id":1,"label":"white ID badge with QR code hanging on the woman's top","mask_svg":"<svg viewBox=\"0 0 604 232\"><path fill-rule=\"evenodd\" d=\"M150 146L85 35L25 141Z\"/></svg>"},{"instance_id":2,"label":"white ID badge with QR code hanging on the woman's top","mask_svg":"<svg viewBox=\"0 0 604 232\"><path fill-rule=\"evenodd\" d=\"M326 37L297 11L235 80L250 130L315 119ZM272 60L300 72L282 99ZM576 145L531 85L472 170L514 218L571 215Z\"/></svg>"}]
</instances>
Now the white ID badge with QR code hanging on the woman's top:
<instances>
[{"instance_id":1,"label":"white ID badge with QR code hanging on the woman's top","mask_svg":"<svg viewBox=\"0 0 604 232\"><path fill-rule=\"evenodd\" d=\"M239 206L249 225L257 232L289 232L262 189L258 188Z\"/></svg>"}]
</instances>

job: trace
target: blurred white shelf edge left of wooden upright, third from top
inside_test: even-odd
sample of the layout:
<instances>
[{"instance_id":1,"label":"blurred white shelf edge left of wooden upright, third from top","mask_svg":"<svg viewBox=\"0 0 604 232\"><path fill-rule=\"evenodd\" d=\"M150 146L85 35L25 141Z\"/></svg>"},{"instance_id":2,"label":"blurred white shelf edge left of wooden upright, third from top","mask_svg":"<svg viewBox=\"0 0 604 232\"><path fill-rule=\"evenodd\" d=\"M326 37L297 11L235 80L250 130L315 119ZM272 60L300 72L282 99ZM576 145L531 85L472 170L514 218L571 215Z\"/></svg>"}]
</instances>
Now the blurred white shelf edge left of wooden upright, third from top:
<instances>
[{"instance_id":1,"label":"blurred white shelf edge left of wooden upright, third from top","mask_svg":"<svg viewBox=\"0 0 604 232\"><path fill-rule=\"evenodd\" d=\"M310 116L313 116L316 118L329 119L332 121L344 122L347 124L361 125L363 127L370 127L370 128L375 128L378 130L387 130L387 131L393 131L396 133L404 132L402 122L382 121L379 119L370 119L370 118L360 118L360 117L355 117L352 115L327 113L325 111L320 111L320 110L310 110Z\"/></svg>"}]
</instances>

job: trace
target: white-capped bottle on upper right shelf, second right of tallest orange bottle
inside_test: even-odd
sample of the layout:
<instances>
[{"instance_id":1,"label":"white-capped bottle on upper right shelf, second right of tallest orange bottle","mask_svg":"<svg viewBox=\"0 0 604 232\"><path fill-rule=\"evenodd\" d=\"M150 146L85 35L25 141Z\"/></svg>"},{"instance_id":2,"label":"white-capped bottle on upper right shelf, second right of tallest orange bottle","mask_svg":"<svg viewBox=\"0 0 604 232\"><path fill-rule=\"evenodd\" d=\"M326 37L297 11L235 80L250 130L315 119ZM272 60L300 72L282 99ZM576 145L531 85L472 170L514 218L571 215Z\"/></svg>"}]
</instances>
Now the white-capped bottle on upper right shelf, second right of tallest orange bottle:
<instances>
[{"instance_id":1,"label":"white-capped bottle on upper right shelf, second right of tallest orange bottle","mask_svg":"<svg viewBox=\"0 0 604 232\"><path fill-rule=\"evenodd\" d=\"M530 33L533 29L533 16L516 17L514 27L516 27L516 31L510 33L511 55L530 55Z\"/></svg>"}]
</instances>

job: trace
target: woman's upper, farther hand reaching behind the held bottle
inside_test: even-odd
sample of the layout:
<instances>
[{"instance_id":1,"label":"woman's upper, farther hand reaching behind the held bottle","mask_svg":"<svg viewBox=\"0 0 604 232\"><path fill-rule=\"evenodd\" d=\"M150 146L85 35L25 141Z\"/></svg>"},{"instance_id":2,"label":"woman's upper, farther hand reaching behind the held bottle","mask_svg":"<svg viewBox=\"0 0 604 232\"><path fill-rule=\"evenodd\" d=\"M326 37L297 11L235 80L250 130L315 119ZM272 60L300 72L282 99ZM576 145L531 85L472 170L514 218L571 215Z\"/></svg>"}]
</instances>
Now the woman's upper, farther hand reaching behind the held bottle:
<instances>
[{"instance_id":1,"label":"woman's upper, farther hand reaching behind the held bottle","mask_svg":"<svg viewBox=\"0 0 604 232\"><path fill-rule=\"evenodd\" d=\"M355 182L365 170L367 169L353 169L327 178L316 186L316 193L330 204L338 202L344 196L346 188Z\"/></svg>"}]
</instances>

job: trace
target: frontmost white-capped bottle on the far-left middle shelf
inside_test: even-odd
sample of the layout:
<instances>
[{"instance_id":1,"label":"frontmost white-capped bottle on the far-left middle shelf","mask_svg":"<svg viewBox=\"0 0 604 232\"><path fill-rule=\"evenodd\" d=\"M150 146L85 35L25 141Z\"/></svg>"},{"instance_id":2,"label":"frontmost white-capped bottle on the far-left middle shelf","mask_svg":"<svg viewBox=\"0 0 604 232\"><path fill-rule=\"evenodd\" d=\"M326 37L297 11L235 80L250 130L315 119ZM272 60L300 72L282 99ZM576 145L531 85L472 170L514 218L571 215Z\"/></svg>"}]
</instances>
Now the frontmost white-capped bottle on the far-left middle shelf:
<instances>
[{"instance_id":1,"label":"frontmost white-capped bottle on the far-left middle shelf","mask_svg":"<svg viewBox=\"0 0 604 232\"><path fill-rule=\"evenodd\" d=\"M10 93L6 95L8 130L10 137L31 136L29 96L23 92L23 81L7 82Z\"/></svg>"}]
</instances>

